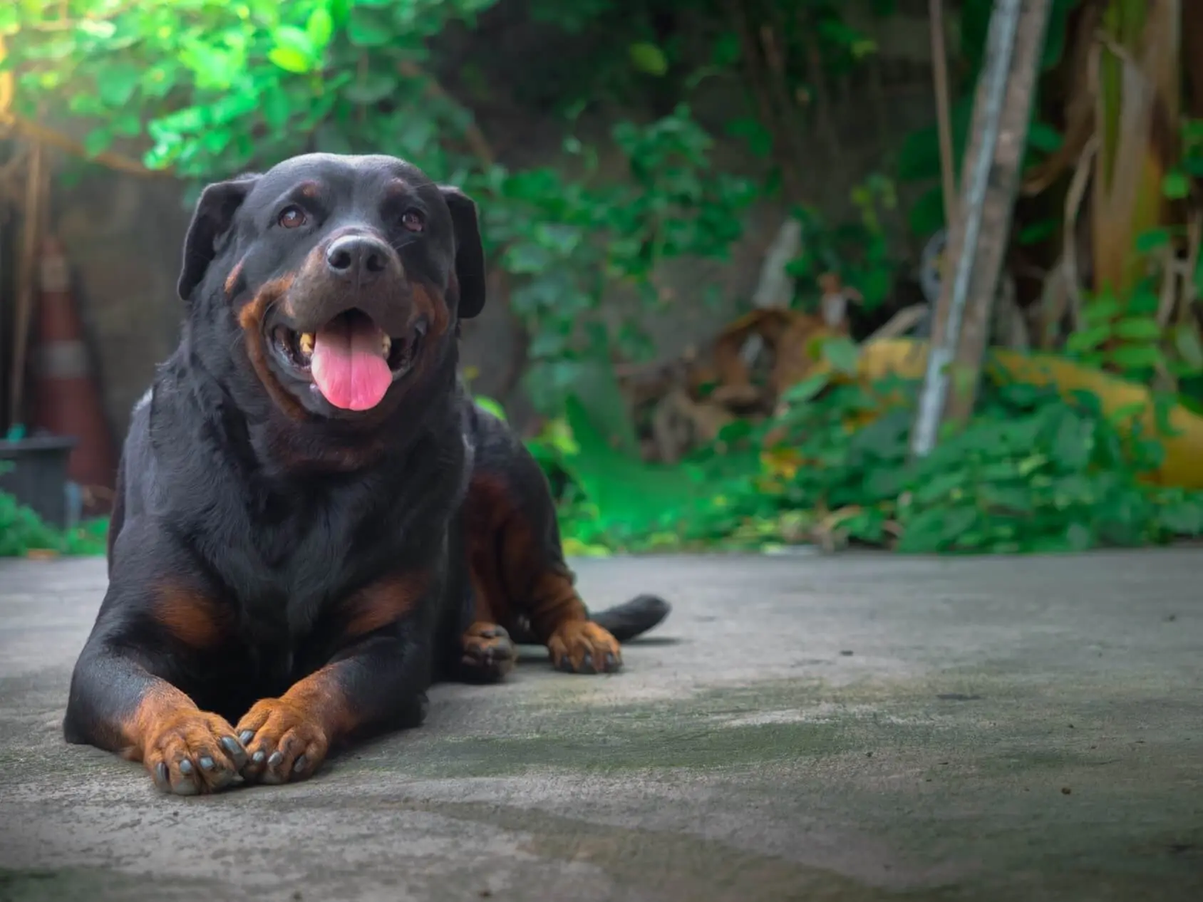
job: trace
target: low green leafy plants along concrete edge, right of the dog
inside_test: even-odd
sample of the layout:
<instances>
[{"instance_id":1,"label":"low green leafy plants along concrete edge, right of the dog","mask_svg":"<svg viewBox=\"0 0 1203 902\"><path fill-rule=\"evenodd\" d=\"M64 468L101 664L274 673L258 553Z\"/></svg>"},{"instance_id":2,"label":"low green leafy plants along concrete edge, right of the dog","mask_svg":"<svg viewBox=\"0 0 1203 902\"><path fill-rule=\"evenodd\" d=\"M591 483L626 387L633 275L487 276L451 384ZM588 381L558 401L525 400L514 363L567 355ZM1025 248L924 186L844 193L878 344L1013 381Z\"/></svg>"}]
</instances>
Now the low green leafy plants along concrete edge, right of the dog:
<instances>
[{"instance_id":1,"label":"low green leafy plants along concrete edge, right of the dog","mask_svg":"<svg viewBox=\"0 0 1203 902\"><path fill-rule=\"evenodd\" d=\"M642 518L624 510L620 534L606 528L603 487L579 482L563 509L564 533L593 548L834 539L924 553L1083 551L1203 533L1203 493L1143 479L1162 445L1126 419L1139 411L1108 419L1089 393L1067 399L991 384L961 432L908 463L915 391L900 380L864 388L814 376L795 386L778 417L729 427L695 458L705 489L688 502L660 493ZM776 441L758 453L770 432ZM610 455L582 447L577 456L586 453ZM630 480L639 465L628 461L614 477Z\"/></svg>"}]
</instances>

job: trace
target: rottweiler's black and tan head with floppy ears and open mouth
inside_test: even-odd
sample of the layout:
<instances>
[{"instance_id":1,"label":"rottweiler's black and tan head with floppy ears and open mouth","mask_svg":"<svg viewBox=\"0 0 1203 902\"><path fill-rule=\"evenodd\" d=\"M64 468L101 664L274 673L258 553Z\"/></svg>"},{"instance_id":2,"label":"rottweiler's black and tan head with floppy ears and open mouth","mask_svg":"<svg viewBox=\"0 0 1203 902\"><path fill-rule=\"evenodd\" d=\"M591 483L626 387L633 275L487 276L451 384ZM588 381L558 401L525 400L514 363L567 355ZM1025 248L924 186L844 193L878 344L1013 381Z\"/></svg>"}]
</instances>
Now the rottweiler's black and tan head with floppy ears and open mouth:
<instances>
[{"instance_id":1,"label":"rottweiler's black and tan head with floppy ears and open mouth","mask_svg":"<svg viewBox=\"0 0 1203 902\"><path fill-rule=\"evenodd\" d=\"M484 307L476 207L396 158L296 156L205 189L179 295L290 417L374 421Z\"/></svg>"}]
</instances>

